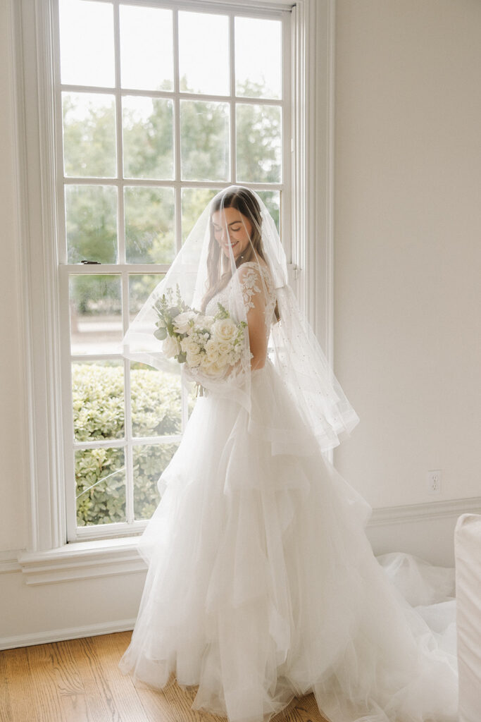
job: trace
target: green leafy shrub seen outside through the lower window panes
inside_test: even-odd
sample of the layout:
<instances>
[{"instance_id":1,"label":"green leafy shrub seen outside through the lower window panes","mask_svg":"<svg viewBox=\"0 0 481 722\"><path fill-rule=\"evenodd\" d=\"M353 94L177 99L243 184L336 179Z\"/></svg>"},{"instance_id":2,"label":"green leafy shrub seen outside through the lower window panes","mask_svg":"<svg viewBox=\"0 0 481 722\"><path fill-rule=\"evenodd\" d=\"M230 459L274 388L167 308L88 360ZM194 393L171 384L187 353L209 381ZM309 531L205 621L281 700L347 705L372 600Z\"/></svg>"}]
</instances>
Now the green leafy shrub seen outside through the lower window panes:
<instances>
[{"instance_id":1,"label":"green leafy shrub seen outside through the lower window panes","mask_svg":"<svg viewBox=\"0 0 481 722\"><path fill-rule=\"evenodd\" d=\"M115 362L72 364L72 396L76 441L123 438L122 365ZM131 406L134 437L180 434L180 378L134 366ZM176 448L175 443L133 446L136 518L150 518L154 512L159 503L156 482ZM125 521L123 448L76 451L75 478L79 526Z\"/></svg>"}]
</instances>

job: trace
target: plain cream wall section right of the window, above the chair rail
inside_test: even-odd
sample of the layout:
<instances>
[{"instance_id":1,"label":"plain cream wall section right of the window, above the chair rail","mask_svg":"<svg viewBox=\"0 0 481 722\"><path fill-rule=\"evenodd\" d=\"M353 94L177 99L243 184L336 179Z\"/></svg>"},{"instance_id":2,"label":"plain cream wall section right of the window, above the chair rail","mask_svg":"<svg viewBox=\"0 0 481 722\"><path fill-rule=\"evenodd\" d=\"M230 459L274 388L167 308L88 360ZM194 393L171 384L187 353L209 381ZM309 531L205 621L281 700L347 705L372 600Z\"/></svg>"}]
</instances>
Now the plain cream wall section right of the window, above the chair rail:
<instances>
[{"instance_id":1,"label":"plain cream wall section right of the window, above the chair rail","mask_svg":"<svg viewBox=\"0 0 481 722\"><path fill-rule=\"evenodd\" d=\"M361 423L335 466L375 508L479 496L481 3L336 22L335 368Z\"/></svg>"}]
</instances>

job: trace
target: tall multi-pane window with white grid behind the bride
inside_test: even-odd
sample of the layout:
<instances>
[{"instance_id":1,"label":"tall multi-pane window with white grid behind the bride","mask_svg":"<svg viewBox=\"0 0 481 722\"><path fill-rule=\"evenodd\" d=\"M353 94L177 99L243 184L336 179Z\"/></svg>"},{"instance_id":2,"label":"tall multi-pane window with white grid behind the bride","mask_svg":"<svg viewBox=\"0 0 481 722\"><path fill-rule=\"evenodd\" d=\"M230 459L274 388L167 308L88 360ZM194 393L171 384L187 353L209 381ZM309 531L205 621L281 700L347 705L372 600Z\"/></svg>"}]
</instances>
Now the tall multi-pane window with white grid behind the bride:
<instances>
[{"instance_id":1,"label":"tall multi-pane window with white grid behind the bride","mask_svg":"<svg viewBox=\"0 0 481 722\"><path fill-rule=\"evenodd\" d=\"M58 11L63 448L77 541L138 533L159 502L195 400L115 347L198 214L244 183L288 225L291 12L162 0L59 0Z\"/></svg>"}]
</instances>

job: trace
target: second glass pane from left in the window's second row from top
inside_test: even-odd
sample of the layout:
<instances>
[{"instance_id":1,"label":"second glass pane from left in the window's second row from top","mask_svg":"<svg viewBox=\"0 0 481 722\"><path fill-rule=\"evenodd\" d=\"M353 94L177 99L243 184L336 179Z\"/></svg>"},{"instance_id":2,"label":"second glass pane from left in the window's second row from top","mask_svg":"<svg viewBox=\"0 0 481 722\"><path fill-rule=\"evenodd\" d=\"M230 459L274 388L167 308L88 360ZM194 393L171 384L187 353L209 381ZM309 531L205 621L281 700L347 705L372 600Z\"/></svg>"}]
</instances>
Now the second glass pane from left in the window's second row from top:
<instances>
[{"instance_id":1,"label":"second glass pane from left in the window's second row from top","mask_svg":"<svg viewBox=\"0 0 481 722\"><path fill-rule=\"evenodd\" d=\"M124 178L174 178L172 100L122 99Z\"/></svg>"}]
</instances>

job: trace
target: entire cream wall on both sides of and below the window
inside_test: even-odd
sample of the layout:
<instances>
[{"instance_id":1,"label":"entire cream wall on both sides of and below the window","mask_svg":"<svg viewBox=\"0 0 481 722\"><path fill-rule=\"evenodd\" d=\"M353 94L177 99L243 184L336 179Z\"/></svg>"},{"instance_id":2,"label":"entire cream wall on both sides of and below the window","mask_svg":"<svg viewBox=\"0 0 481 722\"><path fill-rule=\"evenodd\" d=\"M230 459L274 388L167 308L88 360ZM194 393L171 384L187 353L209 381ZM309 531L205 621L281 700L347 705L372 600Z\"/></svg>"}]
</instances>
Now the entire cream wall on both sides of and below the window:
<instances>
[{"instance_id":1,"label":"entire cream wall on both sides of and below the window","mask_svg":"<svg viewBox=\"0 0 481 722\"><path fill-rule=\"evenodd\" d=\"M0 636L21 644L125 628L144 574L27 586L14 562L1 564L27 543L8 6L0 3L0 339L9 349L0 354ZM424 483L433 468L444 471L436 498L480 495L480 37L477 1L337 0L335 367L361 423L335 465L374 508L432 500ZM379 553L390 544L423 555L427 536L432 560L450 564L452 523L376 526L370 538Z\"/></svg>"}]
</instances>

